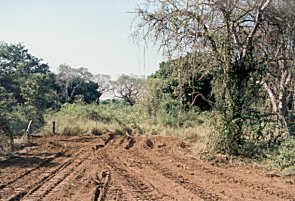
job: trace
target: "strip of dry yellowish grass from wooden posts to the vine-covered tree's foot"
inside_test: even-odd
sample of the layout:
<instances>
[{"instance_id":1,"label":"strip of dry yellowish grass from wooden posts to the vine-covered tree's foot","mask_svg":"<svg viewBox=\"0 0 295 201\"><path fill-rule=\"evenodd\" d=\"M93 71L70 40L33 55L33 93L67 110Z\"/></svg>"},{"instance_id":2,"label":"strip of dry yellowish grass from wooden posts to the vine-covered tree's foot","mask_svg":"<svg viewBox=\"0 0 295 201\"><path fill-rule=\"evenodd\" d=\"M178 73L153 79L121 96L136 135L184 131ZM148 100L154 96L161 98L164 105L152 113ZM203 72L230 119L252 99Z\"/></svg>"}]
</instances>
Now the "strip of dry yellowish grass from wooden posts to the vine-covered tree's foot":
<instances>
[{"instance_id":1,"label":"strip of dry yellowish grass from wooden posts to the vine-covered tree's foot","mask_svg":"<svg viewBox=\"0 0 295 201\"><path fill-rule=\"evenodd\" d=\"M52 133L52 122L54 121L56 123L56 133L60 135L80 135L84 133L101 135L110 131L122 134L149 134L171 136L189 142L193 144L193 150L196 154L204 153L210 147L208 145L210 145L210 137L214 131L212 122L210 122L210 114L200 114L196 117L198 119L195 123L192 123L190 119L188 120L190 124L185 124L189 126L179 127L167 126L154 117L151 119L134 107L125 107L122 110L124 114L122 114L121 110L113 108L113 106L100 108L100 106L93 105L71 105L58 113L47 114L47 124L43 130L44 133ZM88 118L91 113L94 115L99 114L100 119ZM109 119L109 121L102 121L101 118ZM165 117L161 116L160 118Z\"/></svg>"}]
</instances>

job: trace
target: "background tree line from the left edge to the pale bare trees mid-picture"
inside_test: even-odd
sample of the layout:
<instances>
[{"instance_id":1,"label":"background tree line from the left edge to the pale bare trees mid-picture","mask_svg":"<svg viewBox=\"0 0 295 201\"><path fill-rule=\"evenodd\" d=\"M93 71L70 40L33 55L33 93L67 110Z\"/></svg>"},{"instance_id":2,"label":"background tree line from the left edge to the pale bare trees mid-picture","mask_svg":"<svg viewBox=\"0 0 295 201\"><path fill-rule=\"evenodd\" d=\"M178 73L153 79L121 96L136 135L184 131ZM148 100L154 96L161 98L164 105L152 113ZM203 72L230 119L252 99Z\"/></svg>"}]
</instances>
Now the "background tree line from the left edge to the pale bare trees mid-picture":
<instances>
[{"instance_id":1,"label":"background tree line from the left edge to the pale bare trees mid-picture","mask_svg":"<svg viewBox=\"0 0 295 201\"><path fill-rule=\"evenodd\" d=\"M13 145L13 136L22 134L28 122L32 128L44 125L44 112L58 110L65 103L99 104L102 94L135 103L138 76L93 75L87 68L61 64L53 73L49 65L29 53L21 43L0 44L0 150ZM3 147L4 146L4 147ZM11 147L10 147L11 148Z\"/></svg>"}]
</instances>

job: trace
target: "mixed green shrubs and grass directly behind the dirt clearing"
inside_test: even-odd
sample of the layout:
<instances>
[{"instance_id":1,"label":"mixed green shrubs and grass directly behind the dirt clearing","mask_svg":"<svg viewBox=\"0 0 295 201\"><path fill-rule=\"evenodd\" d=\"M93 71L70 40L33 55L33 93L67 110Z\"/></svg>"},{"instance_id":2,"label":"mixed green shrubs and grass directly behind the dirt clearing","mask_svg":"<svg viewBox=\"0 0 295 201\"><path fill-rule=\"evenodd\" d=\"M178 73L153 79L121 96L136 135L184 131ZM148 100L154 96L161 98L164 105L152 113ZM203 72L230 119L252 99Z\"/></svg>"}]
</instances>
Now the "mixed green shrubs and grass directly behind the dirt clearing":
<instances>
[{"instance_id":1,"label":"mixed green shrubs and grass directly behind the dirt clearing","mask_svg":"<svg viewBox=\"0 0 295 201\"><path fill-rule=\"evenodd\" d=\"M206 124L206 115L184 113L169 115L161 112L151 117L148 110L140 105L130 106L123 102L108 104L65 104L58 112L45 115L45 133L52 133L52 122L56 122L56 132L61 135L82 133L105 133L108 131L133 134L177 135L194 140L197 127ZM209 133L209 132L208 132ZM208 134L207 133L207 134Z\"/></svg>"}]
</instances>

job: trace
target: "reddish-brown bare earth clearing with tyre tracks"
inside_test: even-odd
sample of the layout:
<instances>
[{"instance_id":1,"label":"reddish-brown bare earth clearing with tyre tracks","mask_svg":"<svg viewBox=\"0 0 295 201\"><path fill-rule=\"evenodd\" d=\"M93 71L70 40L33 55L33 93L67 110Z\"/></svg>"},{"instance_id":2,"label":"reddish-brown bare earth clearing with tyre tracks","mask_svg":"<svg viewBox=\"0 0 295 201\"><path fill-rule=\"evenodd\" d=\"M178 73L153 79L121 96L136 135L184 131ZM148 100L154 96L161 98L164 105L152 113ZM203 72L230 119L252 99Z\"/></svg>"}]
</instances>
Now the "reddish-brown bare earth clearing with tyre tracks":
<instances>
[{"instance_id":1,"label":"reddish-brown bare earth clearing with tyre tracks","mask_svg":"<svg viewBox=\"0 0 295 201\"><path fill-rule=\"evenodd\" d=\"M1 201L295 200L294 178L210 165L169 137L109 133L33 142L0 162Z\"/></svg>"}]
</instances>

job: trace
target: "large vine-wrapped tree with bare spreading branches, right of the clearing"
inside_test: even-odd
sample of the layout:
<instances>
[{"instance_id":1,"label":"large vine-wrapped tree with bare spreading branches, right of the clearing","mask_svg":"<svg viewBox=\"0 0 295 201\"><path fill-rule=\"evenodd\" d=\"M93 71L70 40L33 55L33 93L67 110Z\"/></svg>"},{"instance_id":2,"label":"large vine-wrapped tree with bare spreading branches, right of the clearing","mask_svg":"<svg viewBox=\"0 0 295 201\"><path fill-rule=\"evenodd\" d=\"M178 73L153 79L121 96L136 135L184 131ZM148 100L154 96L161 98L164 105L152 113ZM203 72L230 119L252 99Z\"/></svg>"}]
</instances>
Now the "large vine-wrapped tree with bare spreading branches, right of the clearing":
<instances>
[{"instance_id":1,"label":"large vine-wrapped tree with bare spreading branches, right of the clearing","mask_svg":"<svg viewBox=\"0 0 295 201\"><path fill-rule=\"evenodd\" d=\"M268 28L269 24L275 23L273 19L284 19L274 8L288 9L282 7L288 2L291 1L147 0L136 9L135 37L155 39L170 58L183 56L186 52L195 58L204 53L212 58L200 72L201 76L210 72L214 78L216 109L223 121L219 143L222 151L239 153L246 139L244 127L255 118L253 114L260 112L253 111L253 97L260 92L263 77L273 63L273 54L264 49L276 52L264 36L274 33L272 38L284 38L283 31L273 32L274 28ZM289 23L288 27L293 26ZM291 31L287 32L291 37L290 34ZM277 49L282 53L286 53L286 47L293 46L292 40L284 41L285 48ZM182 72L182 69L178 70ZM281 78L285 75L279 74ZM287 75L288 79L283 83L289 77ZM289 84L283 88L287 86ZM284 94L284 90L281 92Z\"/></svg>"}]
</instances>

